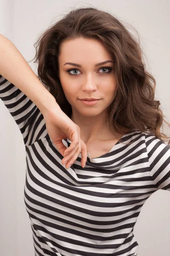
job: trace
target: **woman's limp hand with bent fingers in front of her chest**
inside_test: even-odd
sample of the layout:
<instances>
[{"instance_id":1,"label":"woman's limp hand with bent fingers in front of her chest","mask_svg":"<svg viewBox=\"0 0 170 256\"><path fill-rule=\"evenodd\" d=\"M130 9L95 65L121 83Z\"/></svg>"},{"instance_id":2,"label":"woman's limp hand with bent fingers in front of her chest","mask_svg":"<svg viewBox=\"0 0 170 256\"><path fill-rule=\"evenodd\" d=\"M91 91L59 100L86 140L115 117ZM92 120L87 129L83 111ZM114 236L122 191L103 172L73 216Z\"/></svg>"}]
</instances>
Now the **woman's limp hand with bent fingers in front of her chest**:
<instances>
[{"instance_id":1,"label":"woman's limp hand with bent fingers in front of her chest","mask_svg":"<svg viewBox=\"0 0 170 256\"><path fill-rule=\"evenodd\" d=\"M76 125L58 106L54 107L48 113L45 113L45 125L48 134L56 145L57 150L64 157L62 164L67 161L68 169L77 159L79 153L82 155L81 165L84 168L87 161L87 146L80 139L80 128ZM71 145L66 148L62 143L63 139L71 140ZM69 167L68 167L69 166Z\"/></svg>"}]
</instances>

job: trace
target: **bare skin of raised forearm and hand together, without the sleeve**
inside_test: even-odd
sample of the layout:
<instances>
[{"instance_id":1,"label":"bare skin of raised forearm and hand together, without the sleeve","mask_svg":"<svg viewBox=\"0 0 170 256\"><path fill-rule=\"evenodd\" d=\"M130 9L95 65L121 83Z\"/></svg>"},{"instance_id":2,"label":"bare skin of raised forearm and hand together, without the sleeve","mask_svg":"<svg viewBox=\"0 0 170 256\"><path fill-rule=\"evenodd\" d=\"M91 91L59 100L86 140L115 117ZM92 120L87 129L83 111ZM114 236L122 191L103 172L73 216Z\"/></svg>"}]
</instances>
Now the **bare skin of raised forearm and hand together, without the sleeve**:
<instances>
[{"instance_id":1,"label":"bare skin of raised forearm and hand together, without the sleeve","mask_svg":"<svg viewBox=\"0 0 170 256\"><path fill-rule=\"evenodd\" d=\"M64 164L66 160L68 167L69 164L75 162L79 153L81 153L83 167L87 160L87 146L80 138L78 125L61 110L54 96L43 86L23 58L23 55L2 34L0 34L0 75L20 89L39 108L44 117L48 134L59 153L62 156L64 156L65 152L68 153L62 159L62 163ZM2 83L4 84L4 81ZM25 108L23 111L25 111ZM62 140L66 138L71 140L69 148L66 148L62 143Z\"/></svg>"}]
</instances>

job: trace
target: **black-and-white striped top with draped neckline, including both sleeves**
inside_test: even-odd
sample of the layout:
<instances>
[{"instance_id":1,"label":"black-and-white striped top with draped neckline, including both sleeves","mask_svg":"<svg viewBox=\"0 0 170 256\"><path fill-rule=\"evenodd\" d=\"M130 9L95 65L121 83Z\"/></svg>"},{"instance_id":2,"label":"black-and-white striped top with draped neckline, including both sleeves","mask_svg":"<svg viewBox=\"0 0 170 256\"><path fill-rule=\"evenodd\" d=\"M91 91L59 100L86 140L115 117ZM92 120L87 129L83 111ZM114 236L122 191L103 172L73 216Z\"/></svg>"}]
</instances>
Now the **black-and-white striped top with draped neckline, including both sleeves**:
<instances>
[{"instance_id":1,"label":"black-and-white striped top with draped neckline, including both sleeves","mask_svg":"<svg viewBox=\"0 0 170 256\"><path fill-rule=\"evenodd\" d=\"M81 154L68 170L42 113L0 76L0 98L26 148L24 198L36 256L136 256L133 227L147 198L170 191L170 146L140 131L125 134L100 157ZM70 140L63 140L68 147Z\"/></svg>"}]
</instances>

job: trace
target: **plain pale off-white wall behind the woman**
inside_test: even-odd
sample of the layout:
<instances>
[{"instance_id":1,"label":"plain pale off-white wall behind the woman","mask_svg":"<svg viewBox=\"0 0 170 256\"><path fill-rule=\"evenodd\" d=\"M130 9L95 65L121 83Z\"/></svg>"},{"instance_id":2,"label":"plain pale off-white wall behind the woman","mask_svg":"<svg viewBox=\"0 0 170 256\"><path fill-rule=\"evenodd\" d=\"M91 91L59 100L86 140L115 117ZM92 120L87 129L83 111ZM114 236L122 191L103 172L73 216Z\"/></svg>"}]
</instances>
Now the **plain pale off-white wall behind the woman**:
<instances>
[{"instance_id":1,"label":"plain pale off-white wall behind the woman","mask_svg":"<svg viewBox=\"0 0 170 256\"><path fill-rule=\"evenodd\" d=\"M156 98L170 122L170 1L169 0L0 0L0 33L26 61L45 29L72 7L97 7L111 12L139 32L147 70L156 79ZM76 54L76 51L75 51ZM36 64L29 63L37 73ZM170 136L170 134L167 134ZM24 204L26 152L13 117L0 100L0 255L34 256L30 220ZM170 192L158 190L147 199L134 227L138 256L170 254Z\"/></svg>"}]
</instances>

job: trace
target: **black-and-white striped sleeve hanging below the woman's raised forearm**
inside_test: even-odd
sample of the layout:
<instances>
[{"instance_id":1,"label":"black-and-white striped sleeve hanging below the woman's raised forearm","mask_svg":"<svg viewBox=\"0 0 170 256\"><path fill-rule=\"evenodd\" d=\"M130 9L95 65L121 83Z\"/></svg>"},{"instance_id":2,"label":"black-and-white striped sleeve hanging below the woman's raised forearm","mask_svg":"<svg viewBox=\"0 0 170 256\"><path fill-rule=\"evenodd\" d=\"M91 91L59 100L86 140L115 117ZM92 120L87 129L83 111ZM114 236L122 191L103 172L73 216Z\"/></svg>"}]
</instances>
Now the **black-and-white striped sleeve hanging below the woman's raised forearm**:
<instances>
[{"instance_id":1,"label":"black-and-white striped sleeve hanging below the woman's raised forearm","mask_svg":"<svg viewBox=\"0 0 170 256\"><path fill-rule=\"evenodd\" d=\"M47 135L45 120L39 108L1 75L0 99L17 123L25 145L31 145Z\"/></svg>"}]
</instances>

